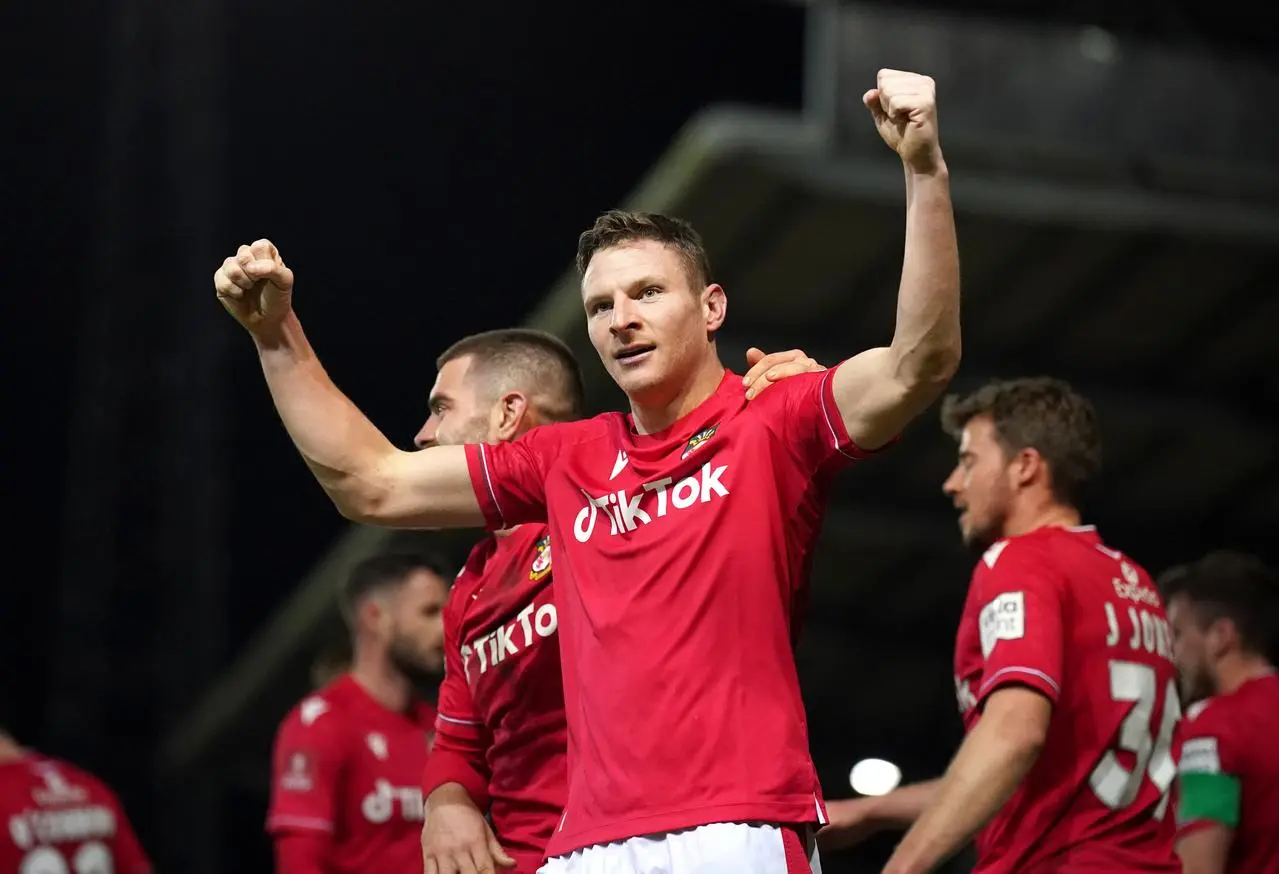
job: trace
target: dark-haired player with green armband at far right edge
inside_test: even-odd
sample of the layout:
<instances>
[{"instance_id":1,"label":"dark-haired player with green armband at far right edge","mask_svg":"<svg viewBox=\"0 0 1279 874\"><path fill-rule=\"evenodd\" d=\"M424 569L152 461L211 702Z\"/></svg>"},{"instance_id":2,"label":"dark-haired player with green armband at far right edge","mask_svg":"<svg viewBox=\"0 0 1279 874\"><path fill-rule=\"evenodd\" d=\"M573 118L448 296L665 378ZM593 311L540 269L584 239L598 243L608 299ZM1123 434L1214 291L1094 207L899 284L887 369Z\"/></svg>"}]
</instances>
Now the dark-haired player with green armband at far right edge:
<instances>
[{"instance_id":1,"label":"dark-haired player with green armband at far right edge","mask_svg":"<svg viewBox=\"0 0 1279 874\"><path fill-rule=\"evenodd\" d=\"M1178 754L1186 874L1279 874L1279 577L1216 552L1159 578L1189 705Z\"/></svg>"}]
</instances>

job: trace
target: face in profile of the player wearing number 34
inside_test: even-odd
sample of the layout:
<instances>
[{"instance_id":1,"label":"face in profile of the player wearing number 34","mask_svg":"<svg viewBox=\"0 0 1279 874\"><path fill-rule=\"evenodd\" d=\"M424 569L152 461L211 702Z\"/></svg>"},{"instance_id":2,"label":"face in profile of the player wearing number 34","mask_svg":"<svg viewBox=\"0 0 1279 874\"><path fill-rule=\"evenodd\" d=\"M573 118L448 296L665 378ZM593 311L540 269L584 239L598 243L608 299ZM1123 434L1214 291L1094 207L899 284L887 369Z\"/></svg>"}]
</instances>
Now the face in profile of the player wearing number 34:
<instances>
[{"instance_id":1,"label":"face in profile of the player wearing number 34","mask_svg":"<svg viewBox=\"0 0 1279 874\"><path fill-rule=\"evenodd\" d=\"M976 416L959 436L959 462L941 484L959 511L959 534L976 549L1004 536L1013 500L1012 473L989 416Z\"/></svg>"}]
</instances>

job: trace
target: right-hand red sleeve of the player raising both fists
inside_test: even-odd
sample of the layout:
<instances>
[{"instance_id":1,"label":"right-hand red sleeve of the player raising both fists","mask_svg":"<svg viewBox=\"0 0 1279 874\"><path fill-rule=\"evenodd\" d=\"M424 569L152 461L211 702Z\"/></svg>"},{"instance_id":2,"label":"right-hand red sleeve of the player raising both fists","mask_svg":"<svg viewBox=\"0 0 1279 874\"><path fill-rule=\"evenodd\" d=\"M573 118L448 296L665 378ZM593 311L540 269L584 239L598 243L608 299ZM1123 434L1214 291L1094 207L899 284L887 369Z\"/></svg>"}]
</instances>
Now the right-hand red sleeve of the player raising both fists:
<instances>
[{"instance_id":1,"label":"right-hand red sleeve of the player raising both fists","mask_svg":"<svg viewBox=\"0 0 1279 874\"><path fill-rule=\"evenodd\" d=\"M834 393L834 376L840 366L843 362L775 383L752 402L758 403L770 393L778 393L774 403L784 404L778 421L784 430L785 444L807 472L816 472L831 462L845 465L862 461L879 452L867 452L848 436Z\"/></svg>"}]
</instances>

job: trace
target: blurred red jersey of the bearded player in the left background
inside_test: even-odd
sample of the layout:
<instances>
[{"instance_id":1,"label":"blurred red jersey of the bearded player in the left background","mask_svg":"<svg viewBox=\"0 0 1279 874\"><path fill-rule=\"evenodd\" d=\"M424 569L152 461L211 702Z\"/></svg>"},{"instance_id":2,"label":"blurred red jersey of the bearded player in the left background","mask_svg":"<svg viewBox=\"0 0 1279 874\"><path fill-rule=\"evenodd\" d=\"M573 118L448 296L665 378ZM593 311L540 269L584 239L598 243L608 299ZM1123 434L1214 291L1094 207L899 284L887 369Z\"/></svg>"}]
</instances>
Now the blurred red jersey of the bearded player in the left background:
<instances>
[{"instance_id":1,"label":"blurred red jersey of the bearded player in the left background","mask_svg":"<svg viewBox=\"0 0 1279 874\"><path fill-rule=\"evenodd\" d=\"M403 874L422 866L422 769L435 711L395 713L349 674L280 724L266 829L327 833L329 870Z\"/></svg>"}]
</instances>

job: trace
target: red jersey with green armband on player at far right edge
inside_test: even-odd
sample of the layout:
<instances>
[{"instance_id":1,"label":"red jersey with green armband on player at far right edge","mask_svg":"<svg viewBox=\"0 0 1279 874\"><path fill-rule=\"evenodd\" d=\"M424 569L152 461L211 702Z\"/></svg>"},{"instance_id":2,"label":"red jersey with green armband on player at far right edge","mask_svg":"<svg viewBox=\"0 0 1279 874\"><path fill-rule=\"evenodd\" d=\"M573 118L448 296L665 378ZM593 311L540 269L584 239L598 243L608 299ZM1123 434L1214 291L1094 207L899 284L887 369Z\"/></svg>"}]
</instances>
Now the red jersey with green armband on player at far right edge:
<instances>
[{"instance_id":1,"label":"red jersey with green armband on player at far right edge","mask_svg":"<svg viewBox=\"0 0 1279 874\"><path fill-rule=\"evenodd\" d=\"M1276 728L1279 676L1274 673L1192 706L1182 723L1179 834L1212 822L1232 828L1228 871L1279 874Z\"/></svg>"}]
</instances>

